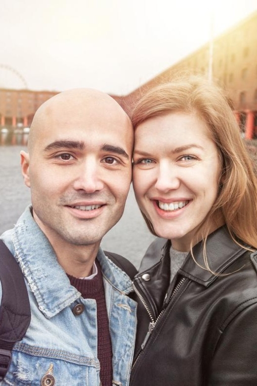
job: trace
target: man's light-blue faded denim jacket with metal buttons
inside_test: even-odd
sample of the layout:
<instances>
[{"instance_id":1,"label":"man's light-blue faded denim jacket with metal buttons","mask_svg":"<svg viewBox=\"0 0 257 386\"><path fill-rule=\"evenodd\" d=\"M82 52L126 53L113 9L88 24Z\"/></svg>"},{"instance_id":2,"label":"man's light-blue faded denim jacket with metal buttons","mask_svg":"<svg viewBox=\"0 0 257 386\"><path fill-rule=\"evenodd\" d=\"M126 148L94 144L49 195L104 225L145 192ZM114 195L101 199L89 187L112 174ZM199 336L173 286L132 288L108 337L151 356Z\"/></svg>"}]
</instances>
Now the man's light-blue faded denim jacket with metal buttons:
<instances>
[{"instance_id":1,"label":"man's light-blue faded denim jacket with metal buttons","mask_svg":"<svg viewBox=\"0 0 257 386\"><path fill-rule=\"evenodd\" d=\"M15 343L0 385L99 386L96 302L84 299L59 265L30 207L1 239L18 261L28 288L31 323ZM113 350L113 385L129 385L136 330L136 302L127 274L99 249ZM1 291L0 291L1 296ZM1 297L0 297L1 298ZM77 304L84 312L73 312Z\"/></svg>"}]
</instances>

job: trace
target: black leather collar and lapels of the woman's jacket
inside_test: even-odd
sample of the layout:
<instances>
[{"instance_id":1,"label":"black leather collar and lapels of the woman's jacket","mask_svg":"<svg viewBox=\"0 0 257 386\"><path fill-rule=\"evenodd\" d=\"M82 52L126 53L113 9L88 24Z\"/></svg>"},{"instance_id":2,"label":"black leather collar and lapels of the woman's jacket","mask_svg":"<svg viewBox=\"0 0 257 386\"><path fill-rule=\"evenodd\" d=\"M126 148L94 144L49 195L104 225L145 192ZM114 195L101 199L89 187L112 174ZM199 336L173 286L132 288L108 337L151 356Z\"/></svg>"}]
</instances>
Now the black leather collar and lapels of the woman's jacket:
<instances>
[{"instance_id":1,"label":"black leather collar and lapels of the woman's jacket","mask_svg":"<svg viewBox=\"0 0 257 386\"><path fill-rule=\"evenodd\" d=\"M164 239L159 239L157 243L159 243L160 251L160 245L164 243ZM185 277L204 287L209 287L218 279L217 274L224 272L245 253L245 249L231 239L227 227L222 226L210 234L206 242L208 264L212 272L202 268L205 267L205 263L204 247L201 241L193 247L194 259L189 252L170 284L170 246L171 241L168 240L159 253L157 253L156 246L148 250L143 258L139 273L133 281L134 287L140 292L151 310L153 318L156 318L160 313L165 297L170 297L179 277ZM149 262L151 267L146 268L149 267Z\"/></svg>"}]
</instances>

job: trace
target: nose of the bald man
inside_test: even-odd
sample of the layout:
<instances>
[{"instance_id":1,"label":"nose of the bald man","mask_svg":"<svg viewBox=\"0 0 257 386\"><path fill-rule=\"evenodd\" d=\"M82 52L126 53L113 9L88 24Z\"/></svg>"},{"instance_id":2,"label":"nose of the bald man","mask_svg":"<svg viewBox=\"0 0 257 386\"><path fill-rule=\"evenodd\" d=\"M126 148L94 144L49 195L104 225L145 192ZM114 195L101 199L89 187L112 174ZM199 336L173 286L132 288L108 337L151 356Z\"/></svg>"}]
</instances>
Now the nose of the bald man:
<instances>
[{"instance_id":1,"label":"nose of the bald man","mask_svg":"<svg viewBox=\"0 0 257 386\"><path fill-rule=\"evenodd\" d=\"M74 189L84 190L86 193L100 191L104 187L100 162L88 159L78 167L74 180Z\"/></svg>"}]
</instances>

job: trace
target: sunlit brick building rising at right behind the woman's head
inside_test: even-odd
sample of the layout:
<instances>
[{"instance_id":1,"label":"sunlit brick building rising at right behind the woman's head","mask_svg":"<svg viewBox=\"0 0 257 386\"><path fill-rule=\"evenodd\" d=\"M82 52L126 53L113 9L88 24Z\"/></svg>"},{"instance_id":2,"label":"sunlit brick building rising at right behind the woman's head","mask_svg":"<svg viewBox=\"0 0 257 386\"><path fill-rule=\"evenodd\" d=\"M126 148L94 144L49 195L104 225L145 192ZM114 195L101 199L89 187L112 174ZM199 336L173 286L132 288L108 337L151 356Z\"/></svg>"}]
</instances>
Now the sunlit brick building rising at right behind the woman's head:
<instances>
[{"instance_id":1,"label":"sunlit brick building rising at right behind the woman's head","mask_svg":"<svg viewBox=\"0 0 257 386\"><path fill-rule=\"evenodd\" d=\"M257 137L257 12L219 35L210 44L192 52L151 79L128 96L122 106L130 114L133 104L146 90L172 80L180 73L210 76L222 86L231 99L241 129L247 139ZM211 54L211 56L210 56Z\"/></svg>"}]
</instances>

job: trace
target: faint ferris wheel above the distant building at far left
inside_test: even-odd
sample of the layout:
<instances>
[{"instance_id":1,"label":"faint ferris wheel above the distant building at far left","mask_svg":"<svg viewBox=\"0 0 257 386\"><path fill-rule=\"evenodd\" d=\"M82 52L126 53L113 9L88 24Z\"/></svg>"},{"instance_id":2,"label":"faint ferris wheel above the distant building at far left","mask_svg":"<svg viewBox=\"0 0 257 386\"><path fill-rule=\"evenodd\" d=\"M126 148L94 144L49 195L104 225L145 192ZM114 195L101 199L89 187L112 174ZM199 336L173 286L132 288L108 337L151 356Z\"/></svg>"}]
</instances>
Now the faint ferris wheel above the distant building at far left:
<instances>
[{"instance_id":1,"label":"faint ferris wheel above the distant building at far left","mask_svg":"<svg viewBox=\"0 0 257 386\"><path fill-rule=\"evenodd\" d=\"M7 64L0 63L0 88L27 90L28 85L19 71Z\"/></svg>"}]
</instances>

